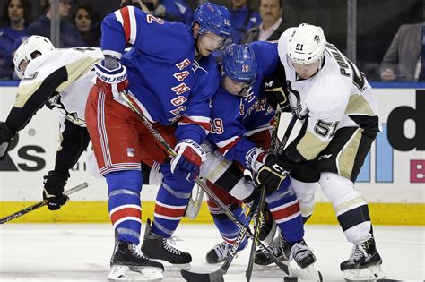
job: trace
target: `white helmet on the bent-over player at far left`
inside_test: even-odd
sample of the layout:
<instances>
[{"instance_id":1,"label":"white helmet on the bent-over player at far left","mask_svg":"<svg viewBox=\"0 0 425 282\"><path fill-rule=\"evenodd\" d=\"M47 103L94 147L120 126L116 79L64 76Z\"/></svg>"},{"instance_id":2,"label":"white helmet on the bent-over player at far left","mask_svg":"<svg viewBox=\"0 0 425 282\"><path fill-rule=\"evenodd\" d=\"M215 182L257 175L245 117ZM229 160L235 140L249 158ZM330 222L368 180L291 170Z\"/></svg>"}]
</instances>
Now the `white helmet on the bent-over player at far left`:
<instances>
[{"instance_id":1,"label":"white helmet on the bent-over player at far left","mask_svg":"<svg viewBox=\"0 0 425 282\"><path fill-rule=\"evenodd\" d=\"M23 77L23 72L19 67L22 61L30 63L30 60L34 59L37 53L43 55L55 49L52 42L48 38L39 35L32 35L28 39L22 42L22 44L16 49L13 56L14 70Z\"/></svg>"}]
</instances>

